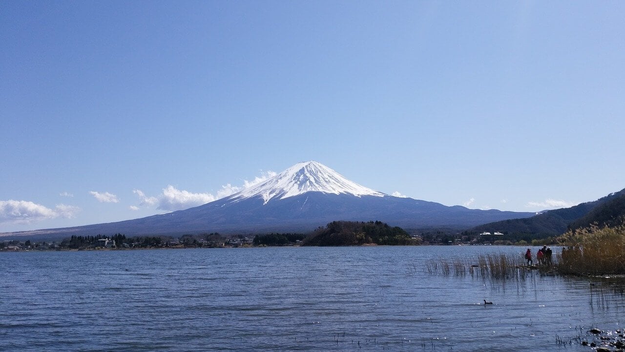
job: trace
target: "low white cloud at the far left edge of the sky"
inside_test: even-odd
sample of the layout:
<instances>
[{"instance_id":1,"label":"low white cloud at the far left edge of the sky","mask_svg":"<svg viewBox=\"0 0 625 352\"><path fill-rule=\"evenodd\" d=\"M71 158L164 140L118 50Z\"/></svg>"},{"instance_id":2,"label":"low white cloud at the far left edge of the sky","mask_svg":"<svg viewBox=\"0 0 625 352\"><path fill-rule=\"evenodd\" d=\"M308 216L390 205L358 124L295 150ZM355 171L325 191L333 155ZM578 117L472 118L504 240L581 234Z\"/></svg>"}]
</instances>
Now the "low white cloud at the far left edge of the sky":
<instances>
[{"instance_id":1,"label":"low white cloud at the far left edge of the sky","mask_svg":"<svg viewBox=\"0 0 625 352\"><path fill-rule=\"evenodd\" d=\"M0 201L0 223L29 224L54 218L73 218L81 209L76 206L58 204L54 209L31 201Z\"/></svg>"}]
</instances>

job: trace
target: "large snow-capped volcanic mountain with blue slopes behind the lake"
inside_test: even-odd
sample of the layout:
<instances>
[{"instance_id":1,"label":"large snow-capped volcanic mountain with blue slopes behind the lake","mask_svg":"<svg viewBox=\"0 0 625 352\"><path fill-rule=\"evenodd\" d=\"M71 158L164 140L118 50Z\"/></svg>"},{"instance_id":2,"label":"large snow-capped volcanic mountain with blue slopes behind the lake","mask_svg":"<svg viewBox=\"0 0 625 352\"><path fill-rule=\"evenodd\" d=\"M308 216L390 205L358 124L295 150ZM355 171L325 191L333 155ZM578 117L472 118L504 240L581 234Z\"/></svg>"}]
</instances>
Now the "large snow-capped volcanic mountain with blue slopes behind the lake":
<instances>
[{"instance_id":1,"label":"large snow-capped volcanic mountain with blue slopes behind the lake","mask_svg":"<svg viewBox=\"0 0 625 352\"><path fill-rule=\"evenodd\" d=\"M146 218L19 234L127 236L312 231L334 220L380 220L403 228L469 228L534 213L467 209L399 198L361 186L317 163L297 163L262 183L195 208ZM17 233L12 233L17 234Z\"/></svg>"}]
</instances>

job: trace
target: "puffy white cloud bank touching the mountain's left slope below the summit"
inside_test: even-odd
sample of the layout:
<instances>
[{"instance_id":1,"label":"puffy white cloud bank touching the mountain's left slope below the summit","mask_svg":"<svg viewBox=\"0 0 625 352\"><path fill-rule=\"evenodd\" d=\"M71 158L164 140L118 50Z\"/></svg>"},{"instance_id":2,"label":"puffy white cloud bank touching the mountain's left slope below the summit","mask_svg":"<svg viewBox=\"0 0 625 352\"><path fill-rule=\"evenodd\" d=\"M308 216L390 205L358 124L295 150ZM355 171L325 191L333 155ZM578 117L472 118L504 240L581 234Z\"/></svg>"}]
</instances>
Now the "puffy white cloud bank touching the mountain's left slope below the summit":
<instances>
[{"instance_id":1,"label":"puffy white cloud bank touching the mountain's left slope below the summit","mask_svg":"<svg viewBox=\"0 0 625 352\"><path fill-rule=\"evenodd\" d=\"M183 210L225 198L243 189L255 186L268 178L276 176L276 174L274 171L262 172L261 176L256 176L252 181L244 180L242 186L232 186L232 184L227 183L221 186L217 194L192 193L184 189L178 189L171 184L163 188L163 193L159 194L158 197L148 197L141 189L135 189L133 193L139 196L140 206L154 206L158 204L156 209L159 210Z\"/></svg>"}]
</instances>

